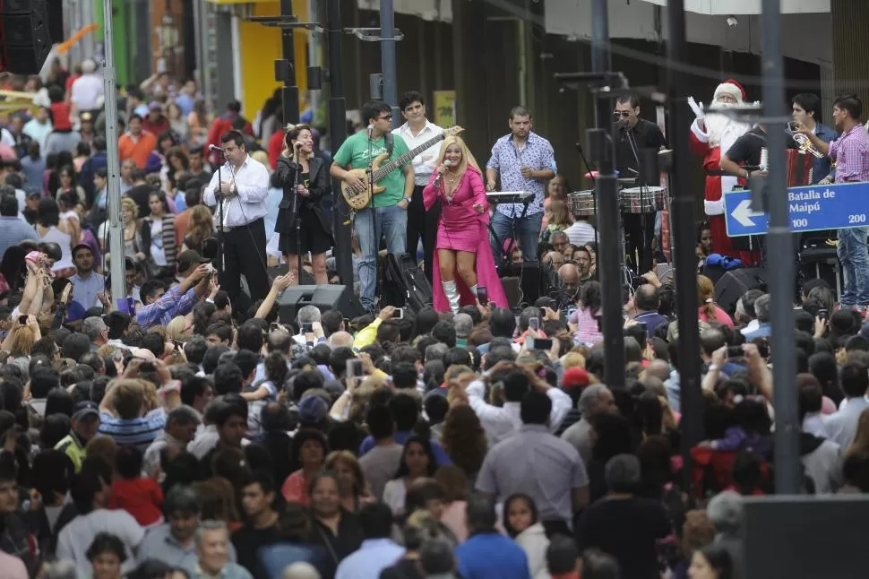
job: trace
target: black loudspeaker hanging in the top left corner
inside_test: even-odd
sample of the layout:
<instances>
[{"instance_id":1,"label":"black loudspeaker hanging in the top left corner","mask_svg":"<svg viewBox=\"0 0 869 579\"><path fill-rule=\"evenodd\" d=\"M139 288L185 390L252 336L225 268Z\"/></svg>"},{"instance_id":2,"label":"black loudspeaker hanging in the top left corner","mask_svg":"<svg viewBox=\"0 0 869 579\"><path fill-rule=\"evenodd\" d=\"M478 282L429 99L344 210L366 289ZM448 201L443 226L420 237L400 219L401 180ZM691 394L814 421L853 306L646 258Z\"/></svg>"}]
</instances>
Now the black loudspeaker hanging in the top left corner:
<instances>
[{"instance_id":1,"label":"black loudspeaker hanging in the top left corner","mask_svg":"<svg viewBox=\"0 0 869 579\"><path fill-rule=\"evenodd\" d=\"M4 71L38 74L51 51L46 0L3 0L0 5Z\"/></svg>"}]
</instances>

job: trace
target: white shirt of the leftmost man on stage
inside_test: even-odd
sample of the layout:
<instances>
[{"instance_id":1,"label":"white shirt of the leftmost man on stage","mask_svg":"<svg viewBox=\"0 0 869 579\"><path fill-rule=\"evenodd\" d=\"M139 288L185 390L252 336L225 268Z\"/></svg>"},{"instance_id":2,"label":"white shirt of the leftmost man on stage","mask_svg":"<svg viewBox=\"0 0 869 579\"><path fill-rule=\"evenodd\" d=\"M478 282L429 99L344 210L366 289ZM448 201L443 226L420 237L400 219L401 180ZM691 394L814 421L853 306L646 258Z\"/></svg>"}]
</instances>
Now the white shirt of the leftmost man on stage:
<instances>
[{"instance_id":1,"label":"white shirt of the leftmost man on stage","mask_svg":"<svg viewBox=\"0 0 869 579\"><path fill-rule=\"evenodd\" d=\"M220 177L224 181L232 182L233 177L230 170L229 162L224 163L220 168ZM235 172L238 196L224 200L224 225L241 227L265 217L268 212L266 200L269 197L269 169L248 155L241 167L232 170ZM215 169L211 176L211 182L205 187L203 200L209 207L218 204L214 194L220 188L218 175L218 171ZM219 218L219 211L217 216Z\"/></svg>"}]
</instances>

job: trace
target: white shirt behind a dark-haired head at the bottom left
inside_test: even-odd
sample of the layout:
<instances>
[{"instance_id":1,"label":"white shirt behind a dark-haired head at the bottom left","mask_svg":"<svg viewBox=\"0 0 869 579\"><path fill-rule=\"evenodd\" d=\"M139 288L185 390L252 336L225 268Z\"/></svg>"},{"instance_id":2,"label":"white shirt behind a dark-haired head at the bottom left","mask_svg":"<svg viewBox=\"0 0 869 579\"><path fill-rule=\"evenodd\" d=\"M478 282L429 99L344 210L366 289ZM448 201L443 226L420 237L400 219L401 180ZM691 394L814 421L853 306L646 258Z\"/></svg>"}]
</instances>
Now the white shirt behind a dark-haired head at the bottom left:
<instances>
[{"instance_id":1,"label":"white shirt behind a dark-haired head at the bottom left","mask_svg":"<svg viewBox=\"0 0 869 579\"><path fill-rule=\"evenodd\" d=\"M80 577L90 577L93 566L85 553L100 532L110 532L124 542L126 561L121 566L121 572L126 575L133 571L136 566L133 549L139 547L145 530L136 523L132 514L121 510L101 508L75 517L57 537L57 558L73 561Z\"/></svg>"}]
</instances>

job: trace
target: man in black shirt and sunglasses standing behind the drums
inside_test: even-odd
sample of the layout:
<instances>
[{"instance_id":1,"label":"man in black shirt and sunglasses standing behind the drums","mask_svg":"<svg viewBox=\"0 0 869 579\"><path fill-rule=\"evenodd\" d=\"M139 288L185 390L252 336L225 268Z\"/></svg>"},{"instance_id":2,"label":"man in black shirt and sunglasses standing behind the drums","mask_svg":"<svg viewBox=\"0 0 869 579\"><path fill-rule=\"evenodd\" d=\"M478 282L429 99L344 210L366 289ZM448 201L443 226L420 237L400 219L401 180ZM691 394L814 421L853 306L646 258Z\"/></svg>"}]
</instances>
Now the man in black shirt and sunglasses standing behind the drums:
<instances>
[{"instance_id":1,"label":"man in black shirt and sunglasses standing behind the drums","mask_svg":"<svg viewBox=\"0 0 869 579\"><path fill-rule=\"evenodd\" d=\"M639 177L639 185L658 185L647 183L642 178L643 151L660 150L666 146L664 134L655 123L640 118L640 99L634 95L624 95L615 102L616 136L615 168L621 177ZM652 268L652 238L655 235L655 214L623 213L625 249L634 259L638 255L637 272L648 272Z\"/></svg>"}]
</instances>

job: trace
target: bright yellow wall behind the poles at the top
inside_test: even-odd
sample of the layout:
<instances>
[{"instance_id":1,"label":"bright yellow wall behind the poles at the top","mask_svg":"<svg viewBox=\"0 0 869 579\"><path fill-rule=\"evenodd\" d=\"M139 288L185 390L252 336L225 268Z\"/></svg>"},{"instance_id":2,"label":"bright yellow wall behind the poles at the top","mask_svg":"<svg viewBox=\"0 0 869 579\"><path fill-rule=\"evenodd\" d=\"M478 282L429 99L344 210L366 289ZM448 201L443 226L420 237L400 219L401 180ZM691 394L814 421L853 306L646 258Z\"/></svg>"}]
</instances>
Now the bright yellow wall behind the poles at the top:
<instances>
[{"instance_id":1,"label":"bright yellow wall behind the poles at the top","mask_svg":"<svg viewBox=\"0 0 869 579\"><path fill-rule=\"evenodd\" d=\"M279 2L254 4L254 16L277 16ZM306 0L293 0L293 13L301 22L308 22ZM241 46L242 107L245 117L253 119L262 103L280 86L274 80L274 61L280 54L280 29L262 26L258 22L239 22L238 39ZM296 83L299 91L307 89L307 30L295 30Z\"/></svg>"}]
</instances>

